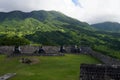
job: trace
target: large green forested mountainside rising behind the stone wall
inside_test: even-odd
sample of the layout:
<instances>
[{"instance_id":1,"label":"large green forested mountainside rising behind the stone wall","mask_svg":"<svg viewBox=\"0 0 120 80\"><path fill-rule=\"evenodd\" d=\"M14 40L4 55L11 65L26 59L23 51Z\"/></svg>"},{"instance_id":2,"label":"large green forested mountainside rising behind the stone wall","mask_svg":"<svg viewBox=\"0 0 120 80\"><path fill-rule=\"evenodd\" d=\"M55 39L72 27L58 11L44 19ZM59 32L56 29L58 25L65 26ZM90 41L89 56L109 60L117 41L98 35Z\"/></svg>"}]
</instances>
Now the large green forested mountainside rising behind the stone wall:
<instances>
[{"instance_id":1,"label":"large green forested mountainside rising behind the stone wall","mask_svg":"<svg viewBox=\"0 0 120 80\"><path fill-rule=\"evenodd\" d=\"M119 36L56 11L0 12L0 45L82 45L120 58Z\"/></svg>"}]
</instances>

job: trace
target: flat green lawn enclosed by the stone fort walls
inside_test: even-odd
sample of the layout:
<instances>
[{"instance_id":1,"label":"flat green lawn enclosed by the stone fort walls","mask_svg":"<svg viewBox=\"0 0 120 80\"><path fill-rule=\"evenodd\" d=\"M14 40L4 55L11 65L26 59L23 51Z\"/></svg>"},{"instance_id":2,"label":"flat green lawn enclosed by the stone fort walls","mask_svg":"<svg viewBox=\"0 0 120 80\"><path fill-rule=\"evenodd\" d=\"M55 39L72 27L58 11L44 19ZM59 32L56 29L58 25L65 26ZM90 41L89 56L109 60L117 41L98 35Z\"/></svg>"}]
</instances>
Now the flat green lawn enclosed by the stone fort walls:
<instances>
[{"instance_id":1,"label":"flat green lawn enclosed by the stone fort walls","mask_svg":"<svg viewBox=\"0 0 120 80\"><path fill-rule=\"evenodd\" d=\"M0 75L15 72L10 80L78 80L81 63L100 63L87 55L66 55L63 57L35 57L37 64L27 65L19 58L6 59L0 55Z\"/></svg>"}]
</instances>

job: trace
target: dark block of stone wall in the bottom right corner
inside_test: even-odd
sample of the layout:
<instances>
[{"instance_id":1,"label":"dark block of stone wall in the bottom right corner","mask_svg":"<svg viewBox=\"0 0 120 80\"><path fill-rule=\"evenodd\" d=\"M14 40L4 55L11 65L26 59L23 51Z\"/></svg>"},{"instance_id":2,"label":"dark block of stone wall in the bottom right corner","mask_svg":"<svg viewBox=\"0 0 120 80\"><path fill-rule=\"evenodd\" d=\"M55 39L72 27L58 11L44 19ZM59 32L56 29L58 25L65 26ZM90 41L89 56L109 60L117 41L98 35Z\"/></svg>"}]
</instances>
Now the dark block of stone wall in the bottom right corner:
<instances>
[{"instance_id":1,"label":"dark block of stone wall in the bottom right corner","mask_svg":"<svg viewBox=\"0 0 120 80\"><path fill-rule=\"evenodd\" d=\"M81 64L80 80L120 80L120 65Z\"/></svg>"}]
</instances>

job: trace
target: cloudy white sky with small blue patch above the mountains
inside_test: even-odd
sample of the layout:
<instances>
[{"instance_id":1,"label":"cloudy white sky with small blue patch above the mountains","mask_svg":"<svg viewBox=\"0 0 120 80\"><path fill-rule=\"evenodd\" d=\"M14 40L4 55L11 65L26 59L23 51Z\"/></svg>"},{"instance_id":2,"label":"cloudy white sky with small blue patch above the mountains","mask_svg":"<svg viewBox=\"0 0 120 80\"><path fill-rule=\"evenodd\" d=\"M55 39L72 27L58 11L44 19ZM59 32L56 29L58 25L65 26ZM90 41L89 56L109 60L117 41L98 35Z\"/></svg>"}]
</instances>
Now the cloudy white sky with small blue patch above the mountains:
<instances>
[{"instance_id":1,"label":"cloudy white sky with small blue patch above the mountains","mask_svg":"<svg viewBox=\"0 0 120 80\"><path fill-rule=\"evenodd\" d=\"M90 24L120 22L120 0L0 0L0 12L56 10Z\"/></svg>"}]
</instances>

